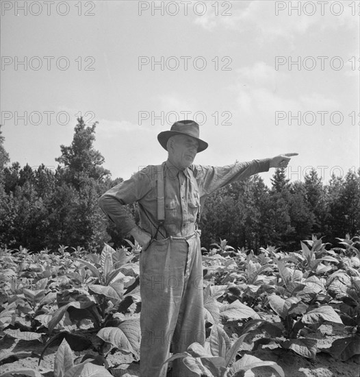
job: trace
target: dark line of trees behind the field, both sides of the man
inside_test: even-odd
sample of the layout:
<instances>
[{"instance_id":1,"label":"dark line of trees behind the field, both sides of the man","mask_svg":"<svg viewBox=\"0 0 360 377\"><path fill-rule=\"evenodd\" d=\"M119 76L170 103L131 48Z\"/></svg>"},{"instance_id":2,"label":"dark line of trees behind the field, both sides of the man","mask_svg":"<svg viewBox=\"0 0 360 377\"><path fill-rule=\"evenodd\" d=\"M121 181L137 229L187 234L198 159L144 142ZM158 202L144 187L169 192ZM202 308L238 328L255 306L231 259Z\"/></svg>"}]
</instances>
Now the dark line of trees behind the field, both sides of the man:
<instances>
[{"instance_id":1,"label":"dark line of trees behind the field, both sides of the man","mask_svg":"<svg viewBox=\"0 0 360 377\"><path fill-rule=\"evenodd\" d=\"M99 197L123 179L113 180L102 167L104 158L93 146L96 125L77 119L71 145L60 146L55 171L8 165L0 130L0 247L54 252L66 245L97 251L104 242L124 243L127 234L98 205ZM136 204L127 210L138 222ZM346 233L359 235L360 169L333 175L328 184L315 169L304 182L290 182L285 169L274 172L270 187L259 175L234 182L207 198L200 228L207 248L221 238L235 248L274 245L292 251L311 234L330 243Z\"/></svg>"}]
</instances>

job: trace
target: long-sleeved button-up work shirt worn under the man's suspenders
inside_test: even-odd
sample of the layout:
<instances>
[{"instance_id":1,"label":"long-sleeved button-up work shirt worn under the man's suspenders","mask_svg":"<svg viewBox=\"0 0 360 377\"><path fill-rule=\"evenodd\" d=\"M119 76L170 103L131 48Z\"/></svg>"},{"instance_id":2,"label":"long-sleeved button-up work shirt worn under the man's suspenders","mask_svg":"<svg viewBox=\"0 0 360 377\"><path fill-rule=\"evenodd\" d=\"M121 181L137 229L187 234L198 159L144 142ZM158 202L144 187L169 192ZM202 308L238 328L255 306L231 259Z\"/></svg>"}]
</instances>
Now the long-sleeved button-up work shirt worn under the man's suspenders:
<instances>
[{"instance_id":1,"label":"long-sleeved button-up work shirt worn under the man's suspenders","mask_svg":"<svg viewBox=\"0 0 360 377\"><path fill-rule=\"evenodd\" d=\"M179 170L168 160L162 165L149 165L134 173L129 180L114 186L101 196L99 205L105 214L127 234L136 226L129 217L126 204L138 202L140 228L154 236L157 221L157 180L164 183L165 221L157 239L188 236L196 229L203 203L216 189L250 175L268 171L270 158L235 162L225 167L191 165Z\"/></svg>"}]
</instances>

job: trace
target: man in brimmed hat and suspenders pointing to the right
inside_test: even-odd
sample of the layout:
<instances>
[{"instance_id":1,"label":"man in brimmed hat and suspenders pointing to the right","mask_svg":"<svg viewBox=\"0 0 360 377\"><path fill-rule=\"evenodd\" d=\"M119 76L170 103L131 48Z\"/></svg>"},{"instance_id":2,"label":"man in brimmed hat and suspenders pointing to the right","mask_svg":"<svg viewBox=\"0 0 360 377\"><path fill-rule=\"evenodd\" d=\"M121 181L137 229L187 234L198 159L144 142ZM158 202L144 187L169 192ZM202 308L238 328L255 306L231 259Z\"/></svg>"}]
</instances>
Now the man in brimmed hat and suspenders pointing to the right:
<instances>
[{"instance_id":1,"label":"man in brimmed hat and suspenders pointing to the right","mask_svg":"<svg viewBox=\"0 0 360 377\"><path fill-rule=\"evenodd\" d=\"M291 156L240 162L227 167L192 165L207 148L198 123L178 121L157 139L168 151L162 165L150 165L100 198L100 206L140 245L140 376L165 377L170 343L184 352L195 341L205 345L203 266L198 221L205 198L216 189L271 167L287 167ZM124 206L138 202L140 226ZM193 376L182 359L173 377Z\"/></svg>"}]
</instances>

